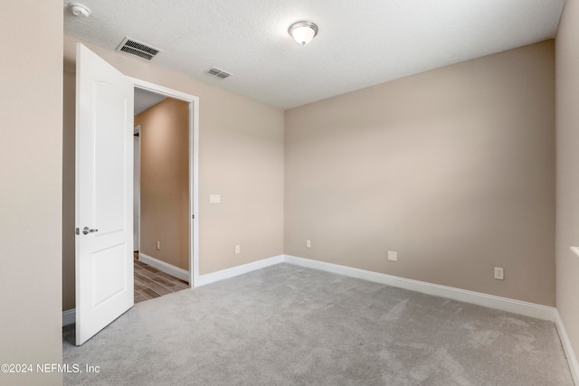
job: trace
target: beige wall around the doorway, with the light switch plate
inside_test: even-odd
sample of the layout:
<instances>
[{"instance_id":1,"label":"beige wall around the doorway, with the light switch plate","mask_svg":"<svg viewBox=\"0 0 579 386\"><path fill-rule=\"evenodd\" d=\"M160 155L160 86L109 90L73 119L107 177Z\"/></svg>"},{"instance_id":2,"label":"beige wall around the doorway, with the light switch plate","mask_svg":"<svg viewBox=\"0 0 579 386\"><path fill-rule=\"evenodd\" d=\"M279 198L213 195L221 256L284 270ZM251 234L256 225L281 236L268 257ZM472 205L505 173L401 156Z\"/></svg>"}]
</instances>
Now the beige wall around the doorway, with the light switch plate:
<instances>
[{"instance_id":1,"label":"beige wall around the doorway, with the light switch plate","mask_svg":"<svg viewBox=\"0 0 579 386\"><path fill-rule=\"evenodd\" d=\"M64 67L70 71L76 42L64 36ZM195 213L200 240L194 241L199 243L200 274L283 253L283 111L127 54L86 45L128 76L200 98L200 210ZM212 193L222 194L221 204L209 203ZM64 202L63 217L70 212L74 202ZM242 245L240 254L234 253L237 244ZM74 265L73 254L64 259L62 264ZM74 278L63 278L62 286L63 303L74 304Z\"/></svg>"}]
</instances>

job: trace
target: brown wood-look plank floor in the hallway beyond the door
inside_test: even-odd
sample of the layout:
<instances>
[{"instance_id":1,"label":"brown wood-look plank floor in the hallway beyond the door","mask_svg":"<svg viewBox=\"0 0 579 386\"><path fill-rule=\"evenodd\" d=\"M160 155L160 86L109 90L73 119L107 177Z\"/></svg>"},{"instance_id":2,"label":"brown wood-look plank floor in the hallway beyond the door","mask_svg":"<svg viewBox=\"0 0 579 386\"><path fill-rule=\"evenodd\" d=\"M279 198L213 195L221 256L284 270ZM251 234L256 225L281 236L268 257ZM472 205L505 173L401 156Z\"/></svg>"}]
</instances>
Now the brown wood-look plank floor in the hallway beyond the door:
<instances>
[{"instance_id":1,"label":"brown wood-look plank floor in the hallway beyond the door","mask_svg":"<svg viewBox=\"0 0 579 386\"><path fill-rule=\"evenodd\" d=\"M135 253L135 304L188 287L187 282L139 261Z\"/></svg>"}]
</instances>

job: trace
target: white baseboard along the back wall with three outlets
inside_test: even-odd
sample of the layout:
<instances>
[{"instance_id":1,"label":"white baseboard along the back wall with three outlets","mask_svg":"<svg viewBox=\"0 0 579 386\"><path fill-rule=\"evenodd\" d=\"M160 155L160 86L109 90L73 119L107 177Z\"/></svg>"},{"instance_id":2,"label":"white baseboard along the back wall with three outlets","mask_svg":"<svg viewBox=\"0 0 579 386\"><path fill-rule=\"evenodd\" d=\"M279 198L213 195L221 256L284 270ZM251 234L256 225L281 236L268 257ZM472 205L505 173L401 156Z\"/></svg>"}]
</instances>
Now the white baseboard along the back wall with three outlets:
<instances>
[{"instance_id":1,"label":"white baseboard along the back wall with three outlets","mask_svg":"<svg viewBox=\"0 0 579 386\"><path fill-rule=\"evenodd\" d=\"M373 272L365 269L351 268L324 261L303 259L296 256L284 255L284 261L306 268L315 268L350 278L361 278L387 286L410 289L422 294L433 295L435 297L446 297L460 302L470 303L478 306L486 306L502 311L508 311L519 315L536 317L538 319L555 321L555 308L541 306L534 303L527 303L520 300L509 299L508 297L496 297L480 292L466 289L440 286L438 284L413 280L410 278L398 278L384 273Z\"/></svg>"}]
</instances>

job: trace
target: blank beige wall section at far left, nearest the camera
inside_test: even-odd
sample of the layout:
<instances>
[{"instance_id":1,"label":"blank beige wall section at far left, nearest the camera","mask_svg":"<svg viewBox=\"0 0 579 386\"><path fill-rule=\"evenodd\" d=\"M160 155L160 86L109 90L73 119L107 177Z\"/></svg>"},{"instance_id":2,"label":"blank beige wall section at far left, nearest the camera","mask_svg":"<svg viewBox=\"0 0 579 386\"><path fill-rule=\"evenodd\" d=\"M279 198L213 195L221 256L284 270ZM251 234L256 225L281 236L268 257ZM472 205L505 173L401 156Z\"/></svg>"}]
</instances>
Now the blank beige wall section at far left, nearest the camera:
<instances>
[{"instance_id":1,"label":"blank beige wall section at far left, nearest the camera","mask_svg":"<svg viewBox=\"0 0 579 386\"><path fill-rule=\"evenodd\" d=\"M62 363L62 2L1 8L0 363L35 370ZM62 374L0 383L57 385Z\"/></svg>"}]
</instances>

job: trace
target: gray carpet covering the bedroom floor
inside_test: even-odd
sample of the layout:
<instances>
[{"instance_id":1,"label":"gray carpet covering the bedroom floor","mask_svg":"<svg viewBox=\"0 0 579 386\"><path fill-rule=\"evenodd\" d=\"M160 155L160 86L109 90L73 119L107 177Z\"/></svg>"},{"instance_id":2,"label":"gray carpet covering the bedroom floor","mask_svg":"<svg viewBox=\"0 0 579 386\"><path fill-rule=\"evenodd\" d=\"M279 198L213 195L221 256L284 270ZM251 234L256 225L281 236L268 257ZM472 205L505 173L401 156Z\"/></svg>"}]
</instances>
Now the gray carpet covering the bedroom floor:
<instances>
[{"instance_id":1,"label":"gray carpet covering the bedroom floor","mask_svg":"<svg viewBox=\"0 0 579 386\"><path fill-rule=\"evenodd\" d=\"M573 385L551 322L279 264L139 303L65 373L98 385Z\"/></svg>"}]
</instances>

